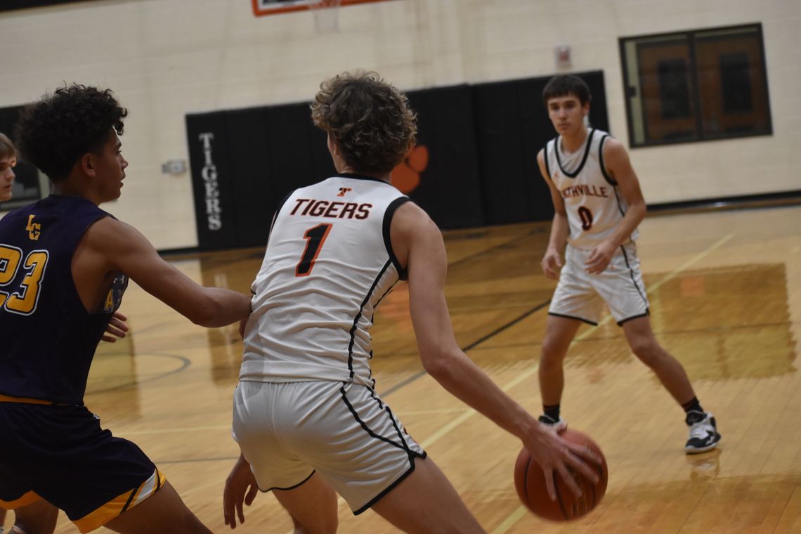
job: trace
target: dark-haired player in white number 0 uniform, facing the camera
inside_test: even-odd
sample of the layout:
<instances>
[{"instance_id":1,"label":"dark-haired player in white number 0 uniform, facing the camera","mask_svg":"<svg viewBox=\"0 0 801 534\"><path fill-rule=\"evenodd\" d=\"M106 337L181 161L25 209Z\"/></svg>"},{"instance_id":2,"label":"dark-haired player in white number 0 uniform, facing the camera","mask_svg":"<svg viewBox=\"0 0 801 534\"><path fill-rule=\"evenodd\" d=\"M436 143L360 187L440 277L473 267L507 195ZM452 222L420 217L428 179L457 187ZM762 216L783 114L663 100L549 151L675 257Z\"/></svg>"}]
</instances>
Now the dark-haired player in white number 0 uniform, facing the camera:
<instances>
[{"instance_id":1,"label":"dark-haired player in white number 0 uniform, facing the camera","mask_svg":"<svg viewBox=\"0 0 801 534\"><path fill-rule=\"evenodd\" d=\"M659 345L651 330L634 243L646 215L637 175L622 143L586 125L590 99L590 88L572 75L552 78L542 91L558 135L537 154L556 212L541 264L545 275L559 283L542 342L540 421L562 424L562 362L582 321L597 324L605 301L631 351L684 408L690 428L685 451L709 451L720 440L714 417L701 408L682 364Z\"/></svg>"}]
</instances>

